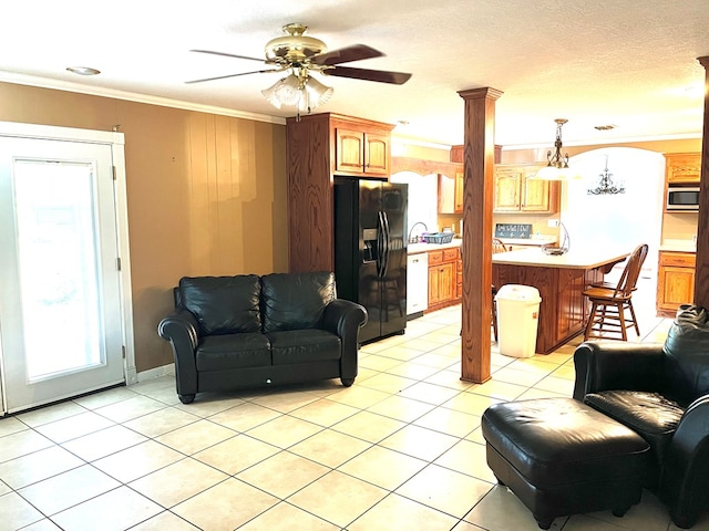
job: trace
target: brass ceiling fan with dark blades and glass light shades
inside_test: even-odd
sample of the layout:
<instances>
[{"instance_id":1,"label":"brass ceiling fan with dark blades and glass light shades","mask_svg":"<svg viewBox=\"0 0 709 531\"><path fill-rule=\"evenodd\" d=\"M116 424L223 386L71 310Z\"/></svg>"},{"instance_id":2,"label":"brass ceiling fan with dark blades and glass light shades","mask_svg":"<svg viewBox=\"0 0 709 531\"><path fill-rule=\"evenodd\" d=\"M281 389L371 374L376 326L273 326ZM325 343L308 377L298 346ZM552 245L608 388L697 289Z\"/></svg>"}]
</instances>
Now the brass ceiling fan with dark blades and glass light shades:
<instances>
[{"instance_id":1,"label":"brass ceiling fan with dark blades and glass light shades","mask_svg":"<svg viewBox=\"0 0 709 531\"><path fill-rule=\"evenodd\" d=\"M383 70L357 69L341 66L342 63L362 61L364 59L381 58L384 54L364 44L353 44L328 52L327 46L319 39L305 35L307 27L300 23L286 24L282 28L286 35L271 39L266 43L266 59L249 58L234 53L215 52L212 50L191 50L197 53L209 53L227 58L245 59L264 62L270 67L240 72L238 74L219 75L186 83L202 83L205 81L224 80L240 75L270 72L290 72L289 75L276 84L261 91L264 96L277 108L282 105L297 106L299 112L310 112L318 105L326 103L332 94L332 88L325 86L310 74L318 72L335 77L350 77L353 80L376 81L402 85L411 77L403 72Z\"/></svg>"}]
</instances>

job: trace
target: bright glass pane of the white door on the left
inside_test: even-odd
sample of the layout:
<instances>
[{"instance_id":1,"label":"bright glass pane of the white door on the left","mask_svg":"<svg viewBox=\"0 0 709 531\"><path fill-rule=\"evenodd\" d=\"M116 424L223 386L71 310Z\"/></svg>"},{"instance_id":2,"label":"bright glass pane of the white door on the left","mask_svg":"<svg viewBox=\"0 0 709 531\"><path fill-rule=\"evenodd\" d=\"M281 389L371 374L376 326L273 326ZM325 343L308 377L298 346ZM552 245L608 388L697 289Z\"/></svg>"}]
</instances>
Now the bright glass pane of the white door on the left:
<instances>
[{"instance_id":1,"label":"bright glass pane of the white door on the left","mask_svg":"<svg viewBox=\"0 0 709 531\"><path fill-rule=\"evenodd\" d=\"M28 381L103 363L92 164L14 164Z\"/></svg>"}]
</instances>

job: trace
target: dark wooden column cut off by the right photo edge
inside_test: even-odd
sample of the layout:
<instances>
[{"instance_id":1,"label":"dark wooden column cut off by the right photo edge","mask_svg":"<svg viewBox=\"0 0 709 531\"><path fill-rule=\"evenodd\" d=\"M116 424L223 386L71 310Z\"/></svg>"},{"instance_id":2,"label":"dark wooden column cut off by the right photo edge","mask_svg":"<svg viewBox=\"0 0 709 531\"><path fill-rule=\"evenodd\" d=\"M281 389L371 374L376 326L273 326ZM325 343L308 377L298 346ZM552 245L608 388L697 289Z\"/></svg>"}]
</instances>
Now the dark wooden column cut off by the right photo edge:
<instances>
[{"instance_id":1,"label":"dark wooden column cut off by the right photo edge","mask_svg":"<svg viewBox=\"0 0 709 531\"><path fill-rule=\"evenodd\" d=\"M701 181L697 227L695 304L709 309L709 56L697 59L705 67L705 124L701 138Z\"/></svg>"}]
</instances>

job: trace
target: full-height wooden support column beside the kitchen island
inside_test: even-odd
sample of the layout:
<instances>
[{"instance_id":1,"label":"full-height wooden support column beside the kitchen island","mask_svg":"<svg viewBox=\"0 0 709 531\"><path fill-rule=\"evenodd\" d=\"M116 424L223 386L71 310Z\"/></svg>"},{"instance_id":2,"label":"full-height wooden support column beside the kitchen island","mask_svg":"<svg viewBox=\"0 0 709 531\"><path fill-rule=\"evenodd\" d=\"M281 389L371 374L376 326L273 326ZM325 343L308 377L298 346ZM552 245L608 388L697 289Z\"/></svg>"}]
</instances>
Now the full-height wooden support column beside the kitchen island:
<instances>
[{"instance_id":1,"label":"full-height wooden support column beside the kitchen island","mask_svg":"<svg viewBox=\"0 0 709 531\"><path fill-rule=\"evenodd\" d=\"M482 384L490 379L494 124L502 92L484 87L459 94L465 101L461 379Z\"/></svg>"}]
</instances>

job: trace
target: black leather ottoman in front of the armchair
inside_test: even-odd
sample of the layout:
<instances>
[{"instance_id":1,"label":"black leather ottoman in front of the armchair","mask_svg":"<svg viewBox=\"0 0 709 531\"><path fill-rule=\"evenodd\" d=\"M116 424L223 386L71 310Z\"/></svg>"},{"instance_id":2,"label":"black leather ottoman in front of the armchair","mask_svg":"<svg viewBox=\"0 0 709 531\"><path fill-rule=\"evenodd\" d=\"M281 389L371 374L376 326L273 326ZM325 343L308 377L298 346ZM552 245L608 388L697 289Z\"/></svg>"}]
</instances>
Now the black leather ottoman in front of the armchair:
<instances>
[{"instance_id":1,"label":"black leather ottoman in front of the armchair","mask_svg":"<svg viewBox=\"0 0 709 531\"><path fill-rule=\"evenodd\" d=\"M631 429L573 398L495 404L483 414L487 465L542 529L557 517L640 501L649 445Z\"/></svg>"}]
</instances>

